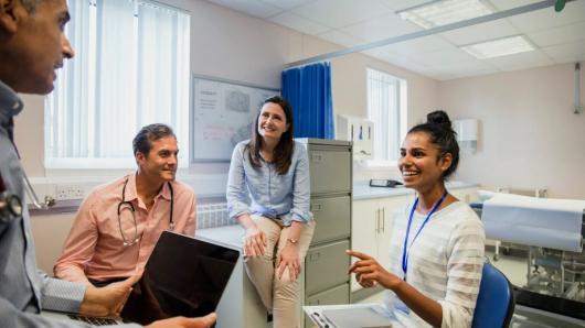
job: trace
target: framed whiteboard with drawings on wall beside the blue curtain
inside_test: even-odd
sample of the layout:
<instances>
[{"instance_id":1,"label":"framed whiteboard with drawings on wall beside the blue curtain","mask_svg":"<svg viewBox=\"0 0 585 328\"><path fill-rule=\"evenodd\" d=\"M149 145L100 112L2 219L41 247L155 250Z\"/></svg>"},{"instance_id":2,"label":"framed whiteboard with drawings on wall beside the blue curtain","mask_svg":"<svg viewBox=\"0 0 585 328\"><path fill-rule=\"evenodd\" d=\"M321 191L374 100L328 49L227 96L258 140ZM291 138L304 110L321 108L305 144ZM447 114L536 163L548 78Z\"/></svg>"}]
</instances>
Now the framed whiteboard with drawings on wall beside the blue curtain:
<instances>
[{"instance_id":1,"label":"framed whiteboard with drawings on wall beside the blue curtain","mask_svg":"<svg viewBox=\"0 0 585 328\"><path fill-rule=\"evenodd\" d=\"M279 89L193 76L192 154L195 162L225 162L249 139L262 102Z\"/></svg>"}]
</instances>

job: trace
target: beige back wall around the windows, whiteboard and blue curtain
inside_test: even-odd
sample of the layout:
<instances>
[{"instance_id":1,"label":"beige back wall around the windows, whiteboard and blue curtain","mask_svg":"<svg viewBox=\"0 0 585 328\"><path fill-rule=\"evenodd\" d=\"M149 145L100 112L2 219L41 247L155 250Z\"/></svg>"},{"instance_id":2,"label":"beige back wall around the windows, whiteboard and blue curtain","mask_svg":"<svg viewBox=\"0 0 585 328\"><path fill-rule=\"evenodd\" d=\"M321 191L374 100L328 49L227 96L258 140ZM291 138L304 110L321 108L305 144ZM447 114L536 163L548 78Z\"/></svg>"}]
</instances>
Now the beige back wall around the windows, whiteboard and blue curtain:
<instances>
[{"instance_id":1,"label":"beige back wall around the windows, whiteboard and blue curtain","mask_svg":"<svg viewBox=\"0 0 585 328\"><path fill-rule=\"evenodd\" d=\"M194 74L279 88L280 73L286 68L287 63L339 48L334 44L313 36L304 35L205 1L163 0L161 2L188 10L192 15L191 67ZM351 55L332 61L332 94L336 112L366 114L366 66L407 79L411 109L408 120L418 120L424 117L424 112L434 108L437 101L436 81L364 55ZM25 109L15 122L17 144L29 176L42 177L46 175L43 166L43 97L23 96L23 100ZM227 164L195 164L189 171L198 174L216 174L226 173L227 167ZM362 173L362 176L363 178L372 174L387 176L393 168L377 173ZM56 172L56 174L67 173ZM123 173L120 171L115 174L121 175ZM76 175L83 176L84 173L76 173ZM72 218L71 214L33 217L33 233L38 243L41 269L52 271Z\"/></svg>"}]
</instances>

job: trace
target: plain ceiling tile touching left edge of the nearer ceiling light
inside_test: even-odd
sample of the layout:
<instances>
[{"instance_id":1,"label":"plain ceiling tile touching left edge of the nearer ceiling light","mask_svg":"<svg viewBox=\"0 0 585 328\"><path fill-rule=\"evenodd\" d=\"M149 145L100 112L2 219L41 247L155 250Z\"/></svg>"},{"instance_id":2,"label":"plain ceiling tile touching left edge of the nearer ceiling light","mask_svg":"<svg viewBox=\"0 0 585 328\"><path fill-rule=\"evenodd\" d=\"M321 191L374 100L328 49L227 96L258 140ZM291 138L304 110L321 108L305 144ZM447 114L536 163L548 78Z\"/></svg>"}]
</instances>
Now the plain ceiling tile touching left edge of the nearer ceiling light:
<instances>
[{"instance_id":1,"label":"plain ceiling tile touching left edge of the nearer ceiling light","mask_svg":"<svg viewBox=\"0 0 585 328\"><path fill-rule=\"evenodd\" d=\"M402 20L395 13L387 13L341 30L350 35L373 42L421 31L422 28Z\"/></svg>"}]
</instances>

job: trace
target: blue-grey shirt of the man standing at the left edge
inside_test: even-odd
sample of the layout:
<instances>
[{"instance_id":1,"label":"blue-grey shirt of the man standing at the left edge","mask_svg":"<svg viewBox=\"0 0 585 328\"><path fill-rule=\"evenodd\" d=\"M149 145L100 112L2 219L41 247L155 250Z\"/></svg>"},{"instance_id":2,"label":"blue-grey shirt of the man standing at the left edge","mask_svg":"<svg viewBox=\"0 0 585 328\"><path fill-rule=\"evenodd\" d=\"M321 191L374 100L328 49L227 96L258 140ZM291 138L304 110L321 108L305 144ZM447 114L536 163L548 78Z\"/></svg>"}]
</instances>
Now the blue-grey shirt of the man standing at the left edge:
<instances>
[{"instance_id":1,"label":"blue-grey shirt of the man standing at the left edge","mask_svg":"<svg viewBox=\"0 0 585 328\"><path fill-rule=\"evenodd\" d=\"M21 110L22 100L0 80L0 175L6 192L25 205L23 168L9 139L12 118ZM82 283L52 278L36 269L26 207L21 217L0 217L0 327L89 327L81 321L55 321L38 315L41 308L76 313L85 288Z\"/></svg>"}]
</instances>

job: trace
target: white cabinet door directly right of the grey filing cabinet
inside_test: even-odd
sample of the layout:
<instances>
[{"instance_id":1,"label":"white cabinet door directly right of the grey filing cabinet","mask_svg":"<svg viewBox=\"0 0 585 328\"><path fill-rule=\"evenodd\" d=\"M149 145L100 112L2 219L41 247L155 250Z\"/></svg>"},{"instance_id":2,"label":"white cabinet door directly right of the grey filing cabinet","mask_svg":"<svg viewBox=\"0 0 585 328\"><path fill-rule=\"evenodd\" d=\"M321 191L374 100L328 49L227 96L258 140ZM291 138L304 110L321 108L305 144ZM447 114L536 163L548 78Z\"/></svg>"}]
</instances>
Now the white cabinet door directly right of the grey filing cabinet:
<instances>
[{"instance_id":1,"label":"white cabinet door directly right of the grey filing cabinet","mask_svg":"<svg viewBox=\"0 0 585 328\"><path fill-rule=\"evenodd\" d=\"M376 254L376 234L380 229L381 209L377 199L354 200L351 222L351 249L369 255ZM352 262L354 262L352 260ZM351 291L361 286L351 276Z\"/></svg>"}]
</instances>

